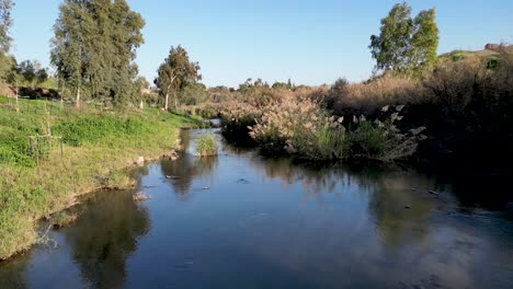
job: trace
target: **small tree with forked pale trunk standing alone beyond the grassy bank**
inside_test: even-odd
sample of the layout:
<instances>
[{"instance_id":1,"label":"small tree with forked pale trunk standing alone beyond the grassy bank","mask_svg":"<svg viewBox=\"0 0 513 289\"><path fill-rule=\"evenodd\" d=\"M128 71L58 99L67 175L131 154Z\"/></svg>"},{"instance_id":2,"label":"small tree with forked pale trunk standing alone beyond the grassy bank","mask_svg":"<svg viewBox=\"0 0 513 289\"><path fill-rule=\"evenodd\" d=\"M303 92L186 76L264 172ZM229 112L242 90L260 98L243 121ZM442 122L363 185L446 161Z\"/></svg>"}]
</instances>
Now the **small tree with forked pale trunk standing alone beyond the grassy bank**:
<instances>
[{"instance_id":1,"label":"small tree with forked pale trunk standing alone beyond the grassy bank","mask_svg":"<svg viewBox=\"0 0 513 289\"><path fill-rule=\"evenodd\" d=\"M200 65L189 60L187 51L179 45L171 46L169 56L157 70L158 77L155 84L159 88L160 95L164 97L164 109L169 109L169 95L174 95L174 107L179 105L179 94L185 86L195 84L202 79Z\"/></svg>"}]
</instances>

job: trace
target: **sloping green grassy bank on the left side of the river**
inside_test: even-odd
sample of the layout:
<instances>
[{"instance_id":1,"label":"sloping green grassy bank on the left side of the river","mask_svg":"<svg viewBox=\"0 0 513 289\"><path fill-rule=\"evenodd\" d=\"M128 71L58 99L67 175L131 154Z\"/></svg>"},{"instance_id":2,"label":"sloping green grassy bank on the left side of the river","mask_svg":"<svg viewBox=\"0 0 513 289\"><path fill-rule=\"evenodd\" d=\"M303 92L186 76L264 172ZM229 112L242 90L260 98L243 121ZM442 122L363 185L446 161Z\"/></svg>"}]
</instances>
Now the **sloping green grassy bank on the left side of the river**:
<instances>
[{"instance_id":1,"label":"sloping green grassy bank on the left side of the river","mask_svg":"<svg viewBox=\"0 0 513 289\"><path fill-rule=\"evenodd\" d=\"M196 123L159 109L76 111L58 103L0 97L0 259L38 242L36 221L102 187L133 184L124 169L178 146L178 128ZM29 136L58 140L29 142Z\"/></svg>"}]
</instances>

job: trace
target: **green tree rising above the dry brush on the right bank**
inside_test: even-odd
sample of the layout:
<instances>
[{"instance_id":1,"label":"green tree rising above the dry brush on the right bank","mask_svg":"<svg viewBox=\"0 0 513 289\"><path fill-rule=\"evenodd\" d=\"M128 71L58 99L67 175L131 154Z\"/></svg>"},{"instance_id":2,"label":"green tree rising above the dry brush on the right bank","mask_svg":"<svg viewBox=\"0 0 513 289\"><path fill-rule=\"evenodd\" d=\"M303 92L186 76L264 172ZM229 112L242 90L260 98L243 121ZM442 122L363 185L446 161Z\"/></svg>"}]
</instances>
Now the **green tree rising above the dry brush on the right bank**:
<instances>
[{"instance_id":1,"label":"green tree rising above the dry brush on the right bank","mask_svg":"<svg viewBox=\"0 0 513 289\"><path fill-rule=\"evenodd\" d=\"M435 10L430 9L411 19L411 8L407 2L394 5L381 20L379 36L371 36L375 71L407 74L432 66L438 47L435 15Z\"/></svg>"}]
</instances>

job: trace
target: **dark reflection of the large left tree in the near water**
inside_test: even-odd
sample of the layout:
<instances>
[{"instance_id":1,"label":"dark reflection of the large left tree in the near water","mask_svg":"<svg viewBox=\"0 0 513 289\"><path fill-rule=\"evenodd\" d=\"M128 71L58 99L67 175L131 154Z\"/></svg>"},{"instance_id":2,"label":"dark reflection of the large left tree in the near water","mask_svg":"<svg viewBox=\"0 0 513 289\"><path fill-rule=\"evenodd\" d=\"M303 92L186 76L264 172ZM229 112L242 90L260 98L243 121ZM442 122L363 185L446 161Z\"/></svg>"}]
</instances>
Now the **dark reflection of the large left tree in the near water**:
<instances>
[{"instance_id":1,"label":"dark reflection of the large left tree in the near water","mask_svg":"<svg viewBox=\"0 0 513 289\"><path fill-rule=\"evenodd\" d=\"M148 212L128 192L102 192L88 203L66 240L84 280L94 288L119 288L127 257L149 230Z\"/></svg>"}]
</instances>

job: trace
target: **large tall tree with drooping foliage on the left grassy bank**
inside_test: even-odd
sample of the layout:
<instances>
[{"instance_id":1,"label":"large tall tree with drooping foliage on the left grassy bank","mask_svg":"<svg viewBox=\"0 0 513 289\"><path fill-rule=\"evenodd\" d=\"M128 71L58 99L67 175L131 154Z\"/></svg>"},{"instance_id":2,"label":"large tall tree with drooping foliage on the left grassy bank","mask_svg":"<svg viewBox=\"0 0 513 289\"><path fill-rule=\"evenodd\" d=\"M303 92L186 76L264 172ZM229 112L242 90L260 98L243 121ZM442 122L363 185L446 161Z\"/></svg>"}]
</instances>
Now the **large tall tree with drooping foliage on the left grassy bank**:
<instances>
[{"instance_id":1,"label":"large tall tree with drooping foliage on the left grassy bank","mask_svg":"<svg viewBox=\"0 0 513 289\"><path fill-rule=\"evenodd\" d=\"M60 86L117 107L137 99L136 49L145 21L125 0L65 0L54 26L52 63Z\"/></svg>"}]
</instances>

